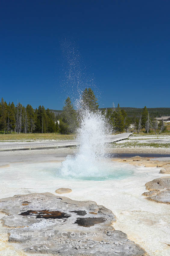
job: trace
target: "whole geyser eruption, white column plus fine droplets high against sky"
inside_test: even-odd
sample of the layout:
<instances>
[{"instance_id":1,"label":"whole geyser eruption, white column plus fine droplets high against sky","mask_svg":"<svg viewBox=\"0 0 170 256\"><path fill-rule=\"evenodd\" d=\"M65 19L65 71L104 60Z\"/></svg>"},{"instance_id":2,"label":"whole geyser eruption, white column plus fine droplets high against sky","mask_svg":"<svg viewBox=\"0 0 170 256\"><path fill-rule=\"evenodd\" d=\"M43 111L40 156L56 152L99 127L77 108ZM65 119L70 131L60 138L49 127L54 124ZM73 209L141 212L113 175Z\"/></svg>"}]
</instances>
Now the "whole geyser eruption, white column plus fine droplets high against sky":
<instances>
[{"instance_id":1,"label":"whole geyser eruption, white column plus fine droplets high against sky","mask_svg":"<svg viewBox=\"0 0 170 256\"><path fill-rule=\"evenodd\" d=\"M79 50L74 43L66 39L62 43L62 50L66 62L63 86L68 92L71 89L72 100L79 113L77 140L80 145L75 156L67 156L62 164L61 173L62 176L74 177L101 176L106 169L104 161L107 158L108 146L106 136L110 134L110 129L105 115L100 110L91 111L82 102L83 90L95 87L96 91L96 86L94 86L94 80L86 76Z\"/></svg>"}]
</instances>

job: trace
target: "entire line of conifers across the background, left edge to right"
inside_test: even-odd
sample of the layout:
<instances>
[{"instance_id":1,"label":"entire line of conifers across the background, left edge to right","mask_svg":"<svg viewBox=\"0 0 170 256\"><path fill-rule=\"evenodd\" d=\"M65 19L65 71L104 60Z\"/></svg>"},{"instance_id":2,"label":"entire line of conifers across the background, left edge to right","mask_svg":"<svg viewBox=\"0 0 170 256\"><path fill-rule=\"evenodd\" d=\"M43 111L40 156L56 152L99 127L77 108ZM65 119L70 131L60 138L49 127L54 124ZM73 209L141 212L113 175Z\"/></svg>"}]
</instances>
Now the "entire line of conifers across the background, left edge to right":
<instances>
[{"instance_id":1,"label":"entire line of conifers across the background, left edge to right","mask_svg":"<svg viewBox=\"0 0 170 256\"><path fill-rule=\"evenodd\" d=\"M100 111L105 115L107 122L113 132L133 131L140 133L144 131L149 133L153 130L155 133L165 132L166 127L163 120L158 123L154 115L151 115L146 106L140 112L140 116L129 116L124 108L99 109L97 98L91 88L86 88L82 92L80 108L88 108L89 111ZM60 111L61 112L61 111ZM75 109L70 97L65 101L62 113L54 114L49 108L44 106L34 110L31 105L26 107L14 102L7 104L1 99L0 102L0 131L4 133L75 133L80 123L79 110Z\"/></svg>"}]
</instances>

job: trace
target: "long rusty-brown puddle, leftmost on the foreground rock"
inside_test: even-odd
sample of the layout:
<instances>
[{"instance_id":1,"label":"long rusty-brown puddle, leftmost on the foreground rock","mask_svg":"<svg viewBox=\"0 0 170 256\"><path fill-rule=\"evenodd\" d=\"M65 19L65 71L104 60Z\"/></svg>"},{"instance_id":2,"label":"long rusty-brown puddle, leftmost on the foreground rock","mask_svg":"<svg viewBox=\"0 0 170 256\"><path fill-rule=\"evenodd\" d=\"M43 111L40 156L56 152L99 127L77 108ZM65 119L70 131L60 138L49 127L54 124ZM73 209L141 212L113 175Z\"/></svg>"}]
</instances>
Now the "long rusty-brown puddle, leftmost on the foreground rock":
<instances>
[{"instance_id":1,"label":"long rusty-brown puddle, leftmost on the foreground rock","mask_svg":"<svg viewBox=\"0 0 170 256\"><path fill-rule=\"evenodd\" d=\"M37 214L37 215L36 215ZM50 211L50 210L42 210L42 211L33 211L33 210L28 210L25 212L22 212L22 216L27 216L27 215L36 215L36 219L38 218L44 218L44 219L62 219L62 218L68 218L71 215L66 214L65 212L61 211Z\"/></svg>"}]
</instances>

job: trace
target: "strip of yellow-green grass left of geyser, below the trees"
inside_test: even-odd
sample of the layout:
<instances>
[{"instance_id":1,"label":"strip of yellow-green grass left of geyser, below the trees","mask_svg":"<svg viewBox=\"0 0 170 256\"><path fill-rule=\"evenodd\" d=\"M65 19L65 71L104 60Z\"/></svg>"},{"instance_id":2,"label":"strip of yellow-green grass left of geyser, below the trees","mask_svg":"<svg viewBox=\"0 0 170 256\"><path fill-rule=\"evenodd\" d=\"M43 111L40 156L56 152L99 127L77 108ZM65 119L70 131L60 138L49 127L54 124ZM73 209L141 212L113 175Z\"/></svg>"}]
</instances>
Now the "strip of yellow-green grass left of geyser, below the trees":
<instances>
[{"instance_id":1,"label":"strip of yellow-green grass left of geyser, below the trees","mask_svg":"<svg viewBox=\"0 0 170 256\"><path fill-rule=\"evenodd\" d=\"M74 139L75 135L60 135L57 133L8 133L8 134L0 134L0 141L32 141L32 140L51 140L51 139Z\"/></svg>"}]
</instances>

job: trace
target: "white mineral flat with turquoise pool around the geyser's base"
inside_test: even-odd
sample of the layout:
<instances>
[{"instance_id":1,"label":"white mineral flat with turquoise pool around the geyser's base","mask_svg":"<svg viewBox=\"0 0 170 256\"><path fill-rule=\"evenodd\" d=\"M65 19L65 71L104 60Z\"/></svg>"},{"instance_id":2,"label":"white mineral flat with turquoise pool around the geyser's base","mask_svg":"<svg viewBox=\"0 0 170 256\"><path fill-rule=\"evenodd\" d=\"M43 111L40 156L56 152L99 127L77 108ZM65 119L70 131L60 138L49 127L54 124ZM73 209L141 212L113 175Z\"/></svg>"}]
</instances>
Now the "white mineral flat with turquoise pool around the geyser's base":
<instances>
[{"instance_id":1,"label":"white mineral flat with turquoise pool around the geyser's base","mask_svg":"<svg viewBox=\"0 0 170 256\"><path fill-rule=\"evenodd\" d=\"M142 196L145 183L162 176L159 168L107 160L104 166L101 164L105 174L95 178L76 176L76 172L64 177L61 167L61 161L10 163L0 169L0 198L35 192L57 195L56 189L70 188L73 192L61 196L104 205L116 215L115 229L125 232L152 256L169 255L169 205L157 204Z\"/></svg>"}]
</instances>

